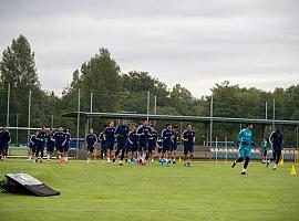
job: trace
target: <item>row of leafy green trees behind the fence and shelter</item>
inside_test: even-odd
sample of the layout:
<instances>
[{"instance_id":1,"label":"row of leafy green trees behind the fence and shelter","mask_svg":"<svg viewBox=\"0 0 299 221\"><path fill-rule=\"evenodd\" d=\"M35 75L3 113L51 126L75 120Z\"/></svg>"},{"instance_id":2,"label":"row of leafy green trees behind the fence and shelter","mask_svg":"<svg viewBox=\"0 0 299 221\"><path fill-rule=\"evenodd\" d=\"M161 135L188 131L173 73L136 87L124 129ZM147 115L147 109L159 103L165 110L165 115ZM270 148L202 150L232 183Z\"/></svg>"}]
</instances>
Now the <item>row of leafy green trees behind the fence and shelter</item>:
<instances>
[{"instance_id":1,"label":"row of leafy green trees behind the fence and shelter","mask_svg":"<svg viewBox=\"0 0 299 221\"><path fill-rule=\"evenodd\" d=\"M23 35L12 40L11 45L3 50L0 63L0 123L2 125L6 124L7 116L8 85L10 85L10 126L28 125L29 91L32 92L32 127L64 125L73 133L76 130L76 119L63 118L61 115L78 109L79 88L81 88L81 110L90 110L92 94L93 112L146 113L147 91L151 91L151 104L154 102L154 96L157 98L157 114L209 115L210 96L196 98L181 84L168 88L165 83L152 77L147 72L122 73L109 50L103 48L73 72L72 82L63 90L62 96L56 96L53 92L42 90L34 52ZM299 119L299 85L265 92L224 82L216 84L212 92L214 116L265 118L267 103L267 115L271 118L275 99L277 119ZM151 113L154 113L153 105L151 105ZM96 127L103 123L103 119L93 122ZM206 125L195 126L200 135L199 141L203 141L206 137ZM219 139L228 136L228 139L233 140L238 129L238 125L216 124L214 135ZM286 128L286 130L289 143L293 143L293 128ZM257 127L257 131L256 138L259 139L261 127Z\"/></svg>"}]
</instances>

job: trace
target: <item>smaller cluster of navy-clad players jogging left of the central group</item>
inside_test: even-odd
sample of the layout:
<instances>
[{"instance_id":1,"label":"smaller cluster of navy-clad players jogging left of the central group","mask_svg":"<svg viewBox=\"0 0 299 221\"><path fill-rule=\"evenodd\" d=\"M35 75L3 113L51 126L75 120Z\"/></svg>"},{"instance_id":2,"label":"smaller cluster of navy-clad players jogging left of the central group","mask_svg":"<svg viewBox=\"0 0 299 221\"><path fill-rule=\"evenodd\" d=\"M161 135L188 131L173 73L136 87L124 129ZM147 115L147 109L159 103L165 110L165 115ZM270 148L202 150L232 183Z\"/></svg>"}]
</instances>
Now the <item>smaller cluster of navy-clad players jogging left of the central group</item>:
<instances>
[{"instance_id":1,"label":"smaller cluster of navy-clad players jogging left of the central group","mask_svg":"<svg viewBox=\"0 0 299 221\"><path fill-rule=\"evenodd\" d=\"M68 162L68 150L70 148L71 135L65 128L59 127L55 131L53 129L47 130L42 127L37 133L30 135L29 138L29 160L34 162L42 162L43 151L47 147L47 161L52 159L54 150L56 150L56 159L61 162Z\"/></svg>"}]
</instances>

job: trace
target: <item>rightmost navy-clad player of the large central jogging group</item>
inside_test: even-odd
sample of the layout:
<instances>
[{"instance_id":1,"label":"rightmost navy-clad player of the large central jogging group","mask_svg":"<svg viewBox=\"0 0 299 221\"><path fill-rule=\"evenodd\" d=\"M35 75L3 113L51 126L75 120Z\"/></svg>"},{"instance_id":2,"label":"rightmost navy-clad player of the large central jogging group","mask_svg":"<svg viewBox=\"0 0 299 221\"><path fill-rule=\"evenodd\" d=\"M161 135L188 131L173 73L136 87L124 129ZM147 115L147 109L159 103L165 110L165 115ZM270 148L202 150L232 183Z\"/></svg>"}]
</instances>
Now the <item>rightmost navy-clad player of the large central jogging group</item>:
<instances>
[{"instance_id":1,"label":"rightmost navy-clad player of the large central jogging group","mask_svg":"<svg viewBox=\"0 0 299 221\"><path fill-rule=\"evenodd\" d=\"M190 160L193 159L194 143L195 143L195 131L193 130L193 125L188 124L187 129L182 135L182 140L184 141L184 166L190 166Z\"/></svg>"}]
</instances>

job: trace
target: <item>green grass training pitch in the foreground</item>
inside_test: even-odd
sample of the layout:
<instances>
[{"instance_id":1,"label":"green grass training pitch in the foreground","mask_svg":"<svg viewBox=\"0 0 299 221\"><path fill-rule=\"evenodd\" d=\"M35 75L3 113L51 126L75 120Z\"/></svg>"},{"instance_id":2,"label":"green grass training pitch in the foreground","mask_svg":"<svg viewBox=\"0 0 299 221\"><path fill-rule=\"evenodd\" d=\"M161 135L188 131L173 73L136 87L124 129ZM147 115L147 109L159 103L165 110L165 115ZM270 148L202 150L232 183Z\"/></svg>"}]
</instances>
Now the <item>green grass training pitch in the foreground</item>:
<instances>
[{"instance_id":1,"label":"green grass training pitch in the foreground","mask_svg":"<svg viewBox=\"0 0 299 221\"><path fill-rule=\"evenodd\" d=\"M61 196L0 193L0 220L299 220L299 178L289 175L290 166L274 171L252 162L241 177L241 165L226 162L187 168L9 159L0 162L1 179L27 172Z\"/></svg>"}]
</instances>

